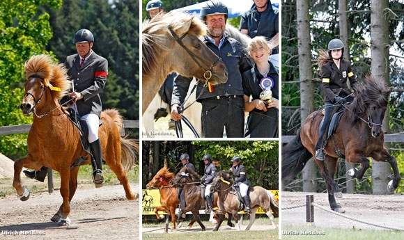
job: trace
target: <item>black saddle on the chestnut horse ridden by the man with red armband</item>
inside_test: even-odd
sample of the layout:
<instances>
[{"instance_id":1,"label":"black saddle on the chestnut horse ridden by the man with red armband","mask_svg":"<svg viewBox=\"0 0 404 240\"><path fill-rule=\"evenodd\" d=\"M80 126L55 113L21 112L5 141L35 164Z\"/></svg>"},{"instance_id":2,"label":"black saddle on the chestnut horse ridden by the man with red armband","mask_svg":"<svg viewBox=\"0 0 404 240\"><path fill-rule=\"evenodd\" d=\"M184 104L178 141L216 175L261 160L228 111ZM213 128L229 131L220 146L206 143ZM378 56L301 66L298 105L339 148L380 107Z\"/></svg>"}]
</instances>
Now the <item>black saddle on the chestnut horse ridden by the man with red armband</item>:
<instances>
[{"instance_id":1,"label":"black saddle on the chestnut horse ridden by the man with red armband","mask_svg":"<svg viewBox=\"0 0 404 240\"><path fill-rule=\"evenodd\" d=\"M81 147L83 147L84 151L86 151L88 154L92 155L90 143L88 142L88 126L87 126L86 121L81 119L81 116L79 114L77 114L74 109L68 108L68 109L66 109L66 111L68 111L68 113L69 113L67 115L68 115L68 119L70 120L70 122L72 122L72 124L75 125L75 127L77 127L77 129L79 129ZM100 119L99 125L102 125L101 119ZM75 162L72 163L72 167L81 166L84 163L86 163L86 161L87 161L87 157L79 156L75 160Z\"/></svg>"}]
</instances>

